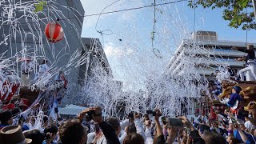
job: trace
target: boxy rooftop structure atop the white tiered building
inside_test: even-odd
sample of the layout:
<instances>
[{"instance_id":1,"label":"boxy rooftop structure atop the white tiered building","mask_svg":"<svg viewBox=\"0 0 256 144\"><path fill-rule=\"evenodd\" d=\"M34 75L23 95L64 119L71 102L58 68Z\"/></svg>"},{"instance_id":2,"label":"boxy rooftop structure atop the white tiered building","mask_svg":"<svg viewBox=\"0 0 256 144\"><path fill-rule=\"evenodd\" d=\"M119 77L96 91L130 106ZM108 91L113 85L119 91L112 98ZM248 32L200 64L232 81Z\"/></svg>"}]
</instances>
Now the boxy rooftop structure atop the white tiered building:
<instances>
[{"instance_id":1,"label":"boxy rooftop structure atop the white tiered building","mask_svg":"<svg viewBox=\"0 0 256 144\"><path fill-rule=\"evenodd\" d=\"M218 35L214 31L196 31L192 37L198 41L218 41Z\"/></svg>"}]
</instances>

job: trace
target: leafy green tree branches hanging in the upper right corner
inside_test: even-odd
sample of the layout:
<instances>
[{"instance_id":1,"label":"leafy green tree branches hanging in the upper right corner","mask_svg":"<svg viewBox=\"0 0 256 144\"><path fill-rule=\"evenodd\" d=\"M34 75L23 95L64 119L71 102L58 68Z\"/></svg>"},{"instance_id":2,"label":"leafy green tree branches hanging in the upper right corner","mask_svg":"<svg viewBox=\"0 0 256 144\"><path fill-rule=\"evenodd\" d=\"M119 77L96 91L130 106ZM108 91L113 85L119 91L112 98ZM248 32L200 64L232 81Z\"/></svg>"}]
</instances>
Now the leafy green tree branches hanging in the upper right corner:
<instances>
[{"instance_id":1,"label":"leafy green tree branches hanging in the upper right corner","mask_svg":"<svg viewBox=\"0 0 256 144\"><path fill-rule=\"evenodd\" d=\"M229 26L238 28L242 26L242 30L247 28L256 29L254 22L253 2L251 0L190 0L189 6L195 8L202 6L203 8L222 8L222 18L230 21Z\"/></svg>"}]
</instances>

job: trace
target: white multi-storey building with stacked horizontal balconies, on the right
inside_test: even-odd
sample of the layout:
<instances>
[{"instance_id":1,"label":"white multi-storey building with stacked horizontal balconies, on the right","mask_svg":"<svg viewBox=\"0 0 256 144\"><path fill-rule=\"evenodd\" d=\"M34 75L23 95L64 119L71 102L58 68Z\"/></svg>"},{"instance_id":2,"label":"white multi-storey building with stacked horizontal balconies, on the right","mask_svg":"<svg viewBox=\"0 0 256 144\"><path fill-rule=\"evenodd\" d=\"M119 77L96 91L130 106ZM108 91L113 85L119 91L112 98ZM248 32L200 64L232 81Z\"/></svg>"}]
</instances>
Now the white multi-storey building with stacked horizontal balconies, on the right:
<instances>
[{"instance_id":1,"label":"white multi-storey building with stacked horizontal balconies, on the right","mask_svg":"<svg viewBox=\"0 0 256 144\"><path fill-rule=\"evenodd\" d=\"M194 73L209 77L218 66L230 66L237 70L245 67L246 62L236 61L235 58L246 55L242 52L246 50L246 42L219 41L217 33L211 31L197 31L192 36L192 39L184 39L178 46L165 74L181 75L195 66ZM256 48L256 42L247 44Z\"/></svg>"}]
</instances>

